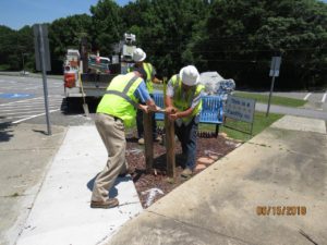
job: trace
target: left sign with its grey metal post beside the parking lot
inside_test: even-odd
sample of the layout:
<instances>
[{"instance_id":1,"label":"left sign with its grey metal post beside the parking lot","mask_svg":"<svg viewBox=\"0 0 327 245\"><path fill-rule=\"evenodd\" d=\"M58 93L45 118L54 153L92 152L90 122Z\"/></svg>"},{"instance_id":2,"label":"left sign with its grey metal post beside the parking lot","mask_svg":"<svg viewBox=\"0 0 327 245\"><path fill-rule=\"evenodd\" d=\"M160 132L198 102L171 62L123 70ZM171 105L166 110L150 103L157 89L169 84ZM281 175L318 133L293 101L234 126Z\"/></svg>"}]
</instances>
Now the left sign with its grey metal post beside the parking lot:
<instances>
[{"instance_id":1,"label":"left sign with its grey metal post beside the parking lot","mask_svg":"<svg viewBox=\"0 0 327 245\"><path fill-rule=\"evenodd\" d=\"M35 24L33 26L33 29L34 29L36 70L43 71L47 128L48 128L48 135L51 135L49 105L48 105L48 86L47 86L47 71L51 71L48 28L47 25L45 24Z\"/></svg>"}]
</instances>

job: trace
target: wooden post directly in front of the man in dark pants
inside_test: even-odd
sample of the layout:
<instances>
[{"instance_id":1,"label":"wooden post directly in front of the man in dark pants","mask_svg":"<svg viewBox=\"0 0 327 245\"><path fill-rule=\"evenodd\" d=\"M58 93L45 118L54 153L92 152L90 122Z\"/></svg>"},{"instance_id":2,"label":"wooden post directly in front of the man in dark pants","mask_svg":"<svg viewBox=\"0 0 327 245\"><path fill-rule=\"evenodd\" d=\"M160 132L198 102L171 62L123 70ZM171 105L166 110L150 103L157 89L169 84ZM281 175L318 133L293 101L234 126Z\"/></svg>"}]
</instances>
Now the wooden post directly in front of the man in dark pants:
<instances>
[{"instance_id":1,"label":"wooden post directly in front of the man in dark pants","mask_svg":"<svg viewBox=\"0 0 327 245\"><path fill-rule=\"evenodd\" d=\"M175 159L174 159L174 125L168 117L165 117L166 127L166 156L167 156L167 174L175 179Z\"/></svg>"}]
</instances>

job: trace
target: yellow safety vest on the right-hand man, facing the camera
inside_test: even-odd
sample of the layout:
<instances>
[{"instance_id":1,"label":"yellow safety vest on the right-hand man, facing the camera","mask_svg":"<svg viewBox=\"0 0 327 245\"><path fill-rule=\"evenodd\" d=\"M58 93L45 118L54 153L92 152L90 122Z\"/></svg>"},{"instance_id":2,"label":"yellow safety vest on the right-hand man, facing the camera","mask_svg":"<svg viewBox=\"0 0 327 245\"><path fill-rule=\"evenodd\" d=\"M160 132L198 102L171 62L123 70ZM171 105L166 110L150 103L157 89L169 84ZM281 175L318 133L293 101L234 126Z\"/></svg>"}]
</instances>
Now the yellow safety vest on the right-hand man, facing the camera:
<instances>
[{"instance_id":1,"label":"yellow safety vest on the right-hand man, facing the camera","mask_svg":"<svg viewBox=\"0 0 327 245\"><path fill-rule=\"evenodd\" d=\"M185 111L192 106L192 101L195 97L197 97L201 91L204 89L202 84L197 84L185 91L182 89L182 79L180 75L173 75L171 77L172 86L173 86L173 106L180 111ZM197 103L197 106L193 109L192 114L186 118L182 118L184 123L189 123L194 115L197 115L202 110L202 100Z\"/></svg>"}]
</instances>

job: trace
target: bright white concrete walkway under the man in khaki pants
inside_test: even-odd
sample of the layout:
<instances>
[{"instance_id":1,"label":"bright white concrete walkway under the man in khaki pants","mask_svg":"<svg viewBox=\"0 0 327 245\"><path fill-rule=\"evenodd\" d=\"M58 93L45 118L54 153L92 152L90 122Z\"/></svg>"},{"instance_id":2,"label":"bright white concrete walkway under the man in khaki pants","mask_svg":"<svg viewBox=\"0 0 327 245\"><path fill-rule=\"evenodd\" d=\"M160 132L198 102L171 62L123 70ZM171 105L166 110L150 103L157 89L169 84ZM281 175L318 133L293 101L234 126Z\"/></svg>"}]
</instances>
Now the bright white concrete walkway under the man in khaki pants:
<instances>
[{"instance_id":1,"label":"bright white concrete walkway under the man in khaki pants","mask_svg":"<svg viewBox=\"0 0 327 245\"><path fill-rule=\"evenodd\" d=\"M142 212L131 177L118 179L110 196L120 206L89 207L93 183L107 160L106 148L92 126L70 127L34 203L17 245L100 244Z\"/></svg>"}]
</instances>

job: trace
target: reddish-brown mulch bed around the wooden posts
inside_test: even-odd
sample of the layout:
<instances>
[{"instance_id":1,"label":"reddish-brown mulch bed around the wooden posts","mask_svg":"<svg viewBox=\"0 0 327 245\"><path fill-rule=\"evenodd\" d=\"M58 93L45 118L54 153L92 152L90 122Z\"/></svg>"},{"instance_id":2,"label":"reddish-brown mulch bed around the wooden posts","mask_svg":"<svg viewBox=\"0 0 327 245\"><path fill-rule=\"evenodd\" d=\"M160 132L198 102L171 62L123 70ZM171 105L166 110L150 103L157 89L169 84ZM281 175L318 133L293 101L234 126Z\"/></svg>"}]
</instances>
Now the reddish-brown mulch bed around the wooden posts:
<instances>
[{"instance_id":1,"label":"reddish-brown mulch bed around the wooden posts","mask_svg":"<svg viewBox=\"0 0 327 245\"><path fill-rule=\"evenodd\" d=\"M218 136L217 138L207 133L199 133L197 137L197 149L196 159L201 157L209 157L213 159L219 159L232 151L237 146L238 142L232 139ZM128 138L126 147L126 160L130 167L134 168L135 171L132 173L132 179L135 184L138 197L141 199L142 206L147 208L147 201L149 198L149 192L152 188L158 188L164 192L164 194L158 194L154 196L153 201L155 203L162 196L167 195L173 188L187 181L181 176L182 168L184 163L181 156L181 146L177 142L175 148L175 166L177 166L177 177L172 180L168 177L166 171L166 147L159 143L154 143L154 170L152 173L146 173L145 168L145 156L144 146L138 145L137 138ZM193 174L196 175L203 170L196 170ZM148 203L148 205L150 205Z\"/></svg>"}]
</instances>

